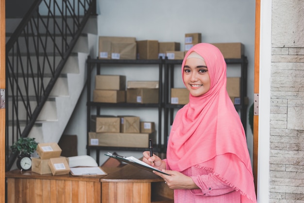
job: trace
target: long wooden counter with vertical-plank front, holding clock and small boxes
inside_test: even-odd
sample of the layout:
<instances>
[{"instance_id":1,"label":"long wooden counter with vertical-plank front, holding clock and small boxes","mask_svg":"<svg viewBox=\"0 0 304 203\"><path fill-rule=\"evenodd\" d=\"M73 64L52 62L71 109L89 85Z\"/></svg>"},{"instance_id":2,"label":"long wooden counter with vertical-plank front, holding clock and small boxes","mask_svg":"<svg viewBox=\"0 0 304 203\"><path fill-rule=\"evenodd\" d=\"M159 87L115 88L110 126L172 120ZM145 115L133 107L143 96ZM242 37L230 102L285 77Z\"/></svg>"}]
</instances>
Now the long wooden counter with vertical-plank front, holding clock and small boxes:
<instances>
[{"instance_id":1,"label":"long wooden counter with vertical-plank front, holding clock and small boxes","mask_svg":"<svg viewBox=\"0 0 304 203\"><path fill-rule=\"evenodd\" d=\"M102 167L106 176L6 172L7 203L173 203L173 190L152 172Z\"/></svg>"}]
</instances>

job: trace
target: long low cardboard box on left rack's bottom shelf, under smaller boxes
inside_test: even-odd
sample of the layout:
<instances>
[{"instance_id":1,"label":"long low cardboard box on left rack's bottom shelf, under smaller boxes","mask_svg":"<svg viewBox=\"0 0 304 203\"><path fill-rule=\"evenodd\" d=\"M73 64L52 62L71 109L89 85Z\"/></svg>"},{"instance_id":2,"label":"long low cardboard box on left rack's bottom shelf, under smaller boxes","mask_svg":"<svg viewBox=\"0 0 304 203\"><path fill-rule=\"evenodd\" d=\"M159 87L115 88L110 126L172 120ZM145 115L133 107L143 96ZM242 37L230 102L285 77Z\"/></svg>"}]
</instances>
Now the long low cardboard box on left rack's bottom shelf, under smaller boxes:
<instances>
[{"instance_id":1,"label":"long low cardboard box on left rack's bottom shelf, under smaller boxes","mask_svg":"<svg viewBox=\"0 0 304 203\"><path fill-rule=\"evenodd\" d=\"M153 133L89 132L89 146L149 148L149 138L156 140Z\"/></svg>"}]
</instances>

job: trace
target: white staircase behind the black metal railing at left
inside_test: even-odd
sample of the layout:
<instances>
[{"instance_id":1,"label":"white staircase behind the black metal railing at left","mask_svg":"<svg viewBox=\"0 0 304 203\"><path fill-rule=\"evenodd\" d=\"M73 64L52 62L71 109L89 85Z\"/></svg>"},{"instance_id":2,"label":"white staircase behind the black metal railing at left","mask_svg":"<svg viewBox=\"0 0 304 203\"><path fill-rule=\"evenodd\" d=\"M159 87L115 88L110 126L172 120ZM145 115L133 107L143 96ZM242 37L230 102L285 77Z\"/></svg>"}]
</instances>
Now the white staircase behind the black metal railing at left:
<instances>
[{"instance_id":1,"label":"white staircase behind the black metal railing at left","mask_svg":"<svg viewBox=\"0 0 304 203\"><path fill-rule=\"evenodd\" d=\"M76 1L91 2L91 0ZM44 6L49 6L49 4L46 3ZM60 6L69 9L72 7L71 5ZM39 7L42 10L41 4ZM79 4L74 9L78 7ZM69 12L75 14L75 11ZM38 143L58 143L83 91L86 82L86 59L88 56L96 57L98 45L96 16L86 19L85 26L81 28L82 32L76 35L77 39L75 36L69 36L71 32L63 33L62 31L73 27L75 19L72 17L66 17L62 21L55 19L59 18L57 16L53 19L45 18L48 19L35 20L38 24L35 27L38 28L38 32L45 28L51 29L42 31L41 33L44 34L38 36L35 30L30 30L31 25L24 28L23 30L30 31L29 33L20 32L17 46L14 47L17 51L13 48L12 53L7 53L9 59L7 59L6 68L8 72L8 67L10 67L10 73L6 75L6 119L8 119L6 170L16 167L14 161L17 155L11 154L10 146L19 137L34 137ZM18 30L19 22L22 20L24 19L6 19L7 44L10 43L10 38L14 37L12 33ZM66 28L66 25L70 27ZM55 42L48 39L50 36ZM69 48L69 42L74 42L71 45L72 49ZM57 67L61 70L58 71ZM51 88L50 84L52 84ZM36 116L34 116L35 113L37 113ZM34 117L36 118L33 122L31 119ZM32 125L31 122L33 122Z\"/></svg>"}]
</instances>

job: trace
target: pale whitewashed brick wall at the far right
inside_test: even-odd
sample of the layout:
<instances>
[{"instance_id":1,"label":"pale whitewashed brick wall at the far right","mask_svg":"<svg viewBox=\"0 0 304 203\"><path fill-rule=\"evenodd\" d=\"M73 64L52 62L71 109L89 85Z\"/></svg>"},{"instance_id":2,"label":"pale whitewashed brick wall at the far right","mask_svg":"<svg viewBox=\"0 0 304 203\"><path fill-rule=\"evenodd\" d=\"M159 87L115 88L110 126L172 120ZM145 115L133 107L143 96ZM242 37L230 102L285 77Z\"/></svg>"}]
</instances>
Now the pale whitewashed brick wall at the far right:
<instances>
[{"instance_id":1,"label":"pale whitewashed brick wall at the far right","mask_svg":"<svg viewBox=\"0 0 304 203\"><path fill-rule=\"evenodd\" d=\"M272 0L271 29L270 203L304 203L304 0Z\"/></svg>"}]
</instances>

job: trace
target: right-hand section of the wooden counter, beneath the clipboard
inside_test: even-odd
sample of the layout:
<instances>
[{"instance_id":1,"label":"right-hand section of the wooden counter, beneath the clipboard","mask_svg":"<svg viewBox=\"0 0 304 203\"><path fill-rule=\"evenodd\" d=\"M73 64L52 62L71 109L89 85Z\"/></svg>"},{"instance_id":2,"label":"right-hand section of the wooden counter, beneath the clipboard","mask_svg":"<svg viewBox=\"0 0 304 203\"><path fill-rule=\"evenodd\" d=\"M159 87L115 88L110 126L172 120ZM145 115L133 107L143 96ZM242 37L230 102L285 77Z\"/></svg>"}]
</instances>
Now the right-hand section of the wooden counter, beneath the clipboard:
<instances>
[{"instance_id":1,"label":"right-hand section of the wooden counter, beneath the clipboard","mask_svg":"<svg viewBox=\"0 0 304 203\"><path fill-rule=\"evenodd\" d=\"M101 178L102 203L173 203L173 190L150 171L127 165Z\"/></svg>"}]
</instances>

